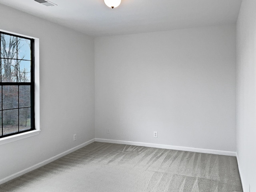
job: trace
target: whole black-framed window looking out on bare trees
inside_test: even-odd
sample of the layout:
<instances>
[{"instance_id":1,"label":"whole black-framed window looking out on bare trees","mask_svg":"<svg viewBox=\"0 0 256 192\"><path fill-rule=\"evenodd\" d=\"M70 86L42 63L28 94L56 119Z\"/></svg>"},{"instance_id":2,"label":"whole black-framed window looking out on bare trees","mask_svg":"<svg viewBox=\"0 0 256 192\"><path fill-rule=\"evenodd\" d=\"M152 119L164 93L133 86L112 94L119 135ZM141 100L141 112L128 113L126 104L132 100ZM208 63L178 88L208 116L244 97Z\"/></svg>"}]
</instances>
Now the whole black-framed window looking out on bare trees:
<instances>
[{"instance_id":1,"label":"whole black-framed window looking out on bare trees","mask_svg":"<svg viewBox=\"0 0 256 192\"><path fill-rule=\"evenodd\" d=\"M34 39L0 32L0 138L35 129Z\"/></svg>"}]
</instances>

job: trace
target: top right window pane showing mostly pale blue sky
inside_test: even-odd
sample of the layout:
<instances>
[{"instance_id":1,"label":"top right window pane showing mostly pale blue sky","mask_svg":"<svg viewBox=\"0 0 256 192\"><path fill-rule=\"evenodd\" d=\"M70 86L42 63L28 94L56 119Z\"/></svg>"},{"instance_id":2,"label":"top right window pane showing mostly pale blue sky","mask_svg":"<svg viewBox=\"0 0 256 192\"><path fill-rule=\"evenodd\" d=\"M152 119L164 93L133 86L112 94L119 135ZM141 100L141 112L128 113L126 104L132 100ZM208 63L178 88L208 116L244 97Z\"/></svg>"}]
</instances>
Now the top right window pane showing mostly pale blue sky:
<instances>
[{"instance_id":1,"label":"top right window pane showing mostly pale blue sky","mask_svg":"<svg viewBox=\"0 0 256 192\"><path fill-rule=\"evenodd\" d=\"M18 37L18 59L31 60L30 40Z\"/></svg>"}]
</instances>

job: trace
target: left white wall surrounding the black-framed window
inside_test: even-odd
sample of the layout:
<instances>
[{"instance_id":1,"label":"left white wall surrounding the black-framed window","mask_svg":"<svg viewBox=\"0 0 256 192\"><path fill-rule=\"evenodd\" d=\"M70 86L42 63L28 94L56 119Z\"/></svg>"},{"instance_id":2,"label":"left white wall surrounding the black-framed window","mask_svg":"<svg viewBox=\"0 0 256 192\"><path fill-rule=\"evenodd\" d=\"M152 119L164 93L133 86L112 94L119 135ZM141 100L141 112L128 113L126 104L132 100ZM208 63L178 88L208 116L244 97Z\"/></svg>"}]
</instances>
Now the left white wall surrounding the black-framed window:
<instances>
[{"instance_id":1,"label":"left white wall surrounding the black-framed window","mask_svg":"<svg viewBox=\"0 0 256 192\"><path fill-rule=\"evenodd\" d=\"M2 180L94 138L94 39L3 5L0 18L1 30L40 40L42 130L0 146Z\"/></svg>"}]
</instances>

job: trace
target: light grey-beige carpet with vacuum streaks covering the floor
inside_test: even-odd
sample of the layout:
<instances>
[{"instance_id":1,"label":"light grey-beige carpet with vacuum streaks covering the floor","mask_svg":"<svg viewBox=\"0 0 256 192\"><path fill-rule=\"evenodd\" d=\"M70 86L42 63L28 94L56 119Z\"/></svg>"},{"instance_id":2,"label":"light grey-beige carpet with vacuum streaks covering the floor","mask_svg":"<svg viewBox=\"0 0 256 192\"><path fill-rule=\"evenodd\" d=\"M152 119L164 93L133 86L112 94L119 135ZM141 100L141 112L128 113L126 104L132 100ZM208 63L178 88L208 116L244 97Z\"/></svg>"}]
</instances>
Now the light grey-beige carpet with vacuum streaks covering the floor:
<instances>
[{"instance_id":1,"label":"light grey-beige carpet with vacuum streaks covering the floor","mask_svg":"<svg viewBox=\"0 0 256 192\"><path fill-rule=\"evenodd\" d=\"M242 192L242 186L235 157L94 142L0 191Z\"/></svg>"}]
</instances>

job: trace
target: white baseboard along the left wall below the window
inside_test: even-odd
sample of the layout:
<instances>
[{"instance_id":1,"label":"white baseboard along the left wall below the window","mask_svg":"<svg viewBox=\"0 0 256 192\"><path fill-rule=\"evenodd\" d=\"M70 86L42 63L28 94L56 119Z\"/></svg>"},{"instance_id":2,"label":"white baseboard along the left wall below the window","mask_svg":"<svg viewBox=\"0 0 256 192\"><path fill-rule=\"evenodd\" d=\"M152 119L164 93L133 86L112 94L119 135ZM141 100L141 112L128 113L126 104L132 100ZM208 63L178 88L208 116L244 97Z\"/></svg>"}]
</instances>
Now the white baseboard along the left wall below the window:
<instances>
[{"instance_id":1,"label":"white baseboard along the left wall below the window","mask_svg":"<svg viewBox=\"0 0 256 192\"><path fill-rule=\"evenodd\" d=\"M87 142L84 142L83 144L80 144L80 145L78 145L78 146L76 146L74 148L66 150L66 151L64 151L64 152L62 152L62 153L60 153L60 154L58 154L56 156L53 156L53 157L51 157L49 159L46 159L46 160L44 160L44 161L42 161L42 162L40 162L38 164L35 164L35 165L33 165L33 166L29 167L29 168L26 168L26 169L24 169L24 170L22 170L20 172L17 172L17 173L14 173L14 174L10 175L10 176L7 176L6 178L3 178L3 179L0 180L0 184L3 184L5 182L8 182L8 181L14 179L14 178L22 176L23 174L26 174L26 173L28 173L30 171L33 171L33 170L35 170L37 168L40 168L40 167L42 167L42 166L44 166L44 165L46 165L46 164L48 164L50 162L53 162L53 161L55 161L55 160L65 156L65 155L68 155L68 154L70 154L70 153L72 153L72 152L74 152L74 151L76 151L76 150L78 150L78 149L80 149L80 148L82 148L84 146L87 146L87 145L93 143L94 141L95 141L95 139L91 139L91 140L89 140Z\"/></svg>"}]
</instances>

